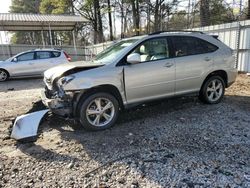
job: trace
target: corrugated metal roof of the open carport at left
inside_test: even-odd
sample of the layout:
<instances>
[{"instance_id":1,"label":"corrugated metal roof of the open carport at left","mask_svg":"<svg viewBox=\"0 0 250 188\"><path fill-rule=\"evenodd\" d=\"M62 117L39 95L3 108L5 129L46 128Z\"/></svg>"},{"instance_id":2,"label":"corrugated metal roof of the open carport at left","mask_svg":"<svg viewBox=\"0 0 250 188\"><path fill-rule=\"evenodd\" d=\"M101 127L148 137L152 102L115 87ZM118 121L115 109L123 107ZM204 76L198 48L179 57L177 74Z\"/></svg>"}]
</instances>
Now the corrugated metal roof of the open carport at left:
<instances>
[{"instance_id":1,"label":"corrugated metal roof of the open carport at left","mask_svg":"<svg viewBox=\"0 0 250 188\"><path fill-rule=\"evenodd\" d=\"M0 13L0 30L72 30L88 20L82 16Z\"/></svg>"}]
</instances>

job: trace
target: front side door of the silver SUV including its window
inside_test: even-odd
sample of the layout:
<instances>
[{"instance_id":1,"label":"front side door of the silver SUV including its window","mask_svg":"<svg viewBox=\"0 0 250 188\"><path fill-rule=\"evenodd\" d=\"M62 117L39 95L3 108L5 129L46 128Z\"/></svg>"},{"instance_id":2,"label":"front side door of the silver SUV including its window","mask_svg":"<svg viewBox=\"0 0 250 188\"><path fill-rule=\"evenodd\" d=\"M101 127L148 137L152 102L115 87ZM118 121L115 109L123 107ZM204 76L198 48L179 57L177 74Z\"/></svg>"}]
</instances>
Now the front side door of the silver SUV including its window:
<instances>
[{"instance_id":1,"label":"front side door of the silver SUV including its window","mask_svg":"<svg viewBox=\"0 0 250 188\"><path fill-rule=\"evenodd\" d=\"M166 37L149 39L133 52L141 61L124 67L125 90L128 103L174 95L175 62L170 55Z\"/></svg>"}]
</instances>

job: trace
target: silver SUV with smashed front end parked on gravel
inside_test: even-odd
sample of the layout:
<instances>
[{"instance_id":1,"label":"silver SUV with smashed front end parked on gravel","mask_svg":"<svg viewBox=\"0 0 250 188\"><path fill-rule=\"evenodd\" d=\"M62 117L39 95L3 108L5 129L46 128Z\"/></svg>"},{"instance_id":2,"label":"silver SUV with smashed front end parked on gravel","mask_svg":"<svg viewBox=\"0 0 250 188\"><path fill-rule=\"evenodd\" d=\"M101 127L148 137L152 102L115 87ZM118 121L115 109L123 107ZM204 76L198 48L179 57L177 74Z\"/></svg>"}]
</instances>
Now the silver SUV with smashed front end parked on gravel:
<instances>
[{"instance_id":1,"label":"silver SUV with smashed front end parked on gravel","mask_svg":"<svg viewBox=\"0 0 250 188\"><path fill-rule=\"evenodd\" d=\"M159 32L121 40L91 62L64 64L44 73L42 100L52 112L102 130L119 111L136 104L196 93L221 101L236 79L232 50L200 32Z\"/></svg>"}]
</instances>

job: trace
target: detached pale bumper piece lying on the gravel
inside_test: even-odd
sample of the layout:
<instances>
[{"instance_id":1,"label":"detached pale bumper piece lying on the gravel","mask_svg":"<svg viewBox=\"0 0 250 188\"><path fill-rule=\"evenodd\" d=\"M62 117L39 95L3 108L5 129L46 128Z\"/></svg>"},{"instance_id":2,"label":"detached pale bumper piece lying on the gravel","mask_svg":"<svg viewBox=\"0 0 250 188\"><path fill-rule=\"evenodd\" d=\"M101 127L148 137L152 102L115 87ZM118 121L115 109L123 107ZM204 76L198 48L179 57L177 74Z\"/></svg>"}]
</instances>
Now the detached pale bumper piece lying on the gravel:
<instances>
[{"instance_id":1,"label":"detached pale bumper piece lying on the gravel","mask_svg":"<svg viewBox=\"0 0 250 188\"><path fill-rule=\"evenodd\" d=\"M18 116L13 125L11 138L20 140L36 136L40 121L48 111L47 109Z\"/></svg>"}]
</instances>

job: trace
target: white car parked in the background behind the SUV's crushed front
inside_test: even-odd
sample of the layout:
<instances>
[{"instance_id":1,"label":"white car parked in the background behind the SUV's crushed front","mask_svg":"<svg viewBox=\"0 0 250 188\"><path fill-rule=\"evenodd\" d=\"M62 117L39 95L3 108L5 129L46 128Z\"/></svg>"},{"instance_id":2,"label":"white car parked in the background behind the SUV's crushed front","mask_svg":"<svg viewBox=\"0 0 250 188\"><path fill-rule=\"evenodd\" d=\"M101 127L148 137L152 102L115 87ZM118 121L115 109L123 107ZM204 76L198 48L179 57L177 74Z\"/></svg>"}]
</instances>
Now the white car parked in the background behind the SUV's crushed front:
<instances>
[{"instance_id":1,"label":"white car parked in the background behind the SUV's crushed front","mask_svg":"<svg viewBox=\"0 0 250 188\"><path fill-rule=\"evenodd\" d=\"M42 76L45 70L69 61L71 61L69 55L57 49L22 52L0 62L0 81L15 77Z\"/></svg>"}]
</instances>

